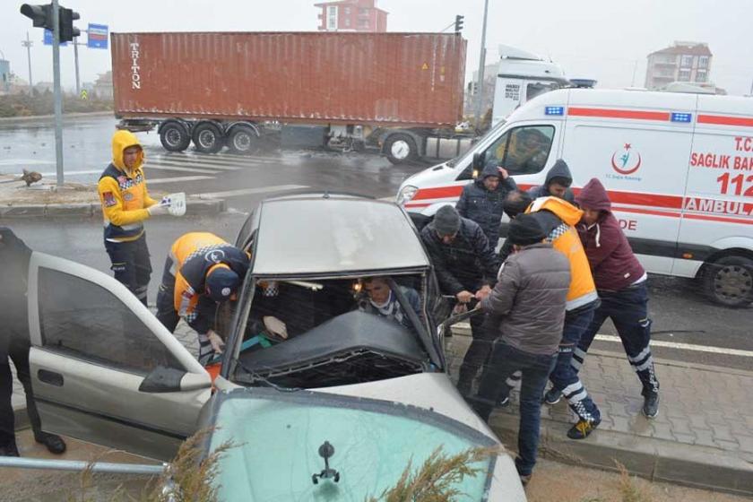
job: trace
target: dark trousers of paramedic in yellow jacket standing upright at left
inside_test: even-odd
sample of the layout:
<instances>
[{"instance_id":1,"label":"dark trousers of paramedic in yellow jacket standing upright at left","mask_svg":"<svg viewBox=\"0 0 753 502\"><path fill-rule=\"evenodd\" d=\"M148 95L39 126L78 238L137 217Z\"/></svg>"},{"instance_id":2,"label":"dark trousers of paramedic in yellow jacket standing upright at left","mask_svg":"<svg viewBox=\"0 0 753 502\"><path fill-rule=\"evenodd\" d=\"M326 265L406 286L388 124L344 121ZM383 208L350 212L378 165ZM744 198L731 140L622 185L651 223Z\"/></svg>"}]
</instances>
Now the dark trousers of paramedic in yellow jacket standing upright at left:
<instances>
[{"instance_id":1,"label":"dark trousers of paramedic in yellow jacket standing upright at left","mask_svg":"<svg viewBox=\"0 0 753 502\"><path fill-rule=\"evenodd\" d=\"M146 247L146 232L130 242L105 241L110 257L110 270L115 278L125 284L134 296L146 305L146 291L151 277L149 248Z\"/></svg>"}]
</instances>

